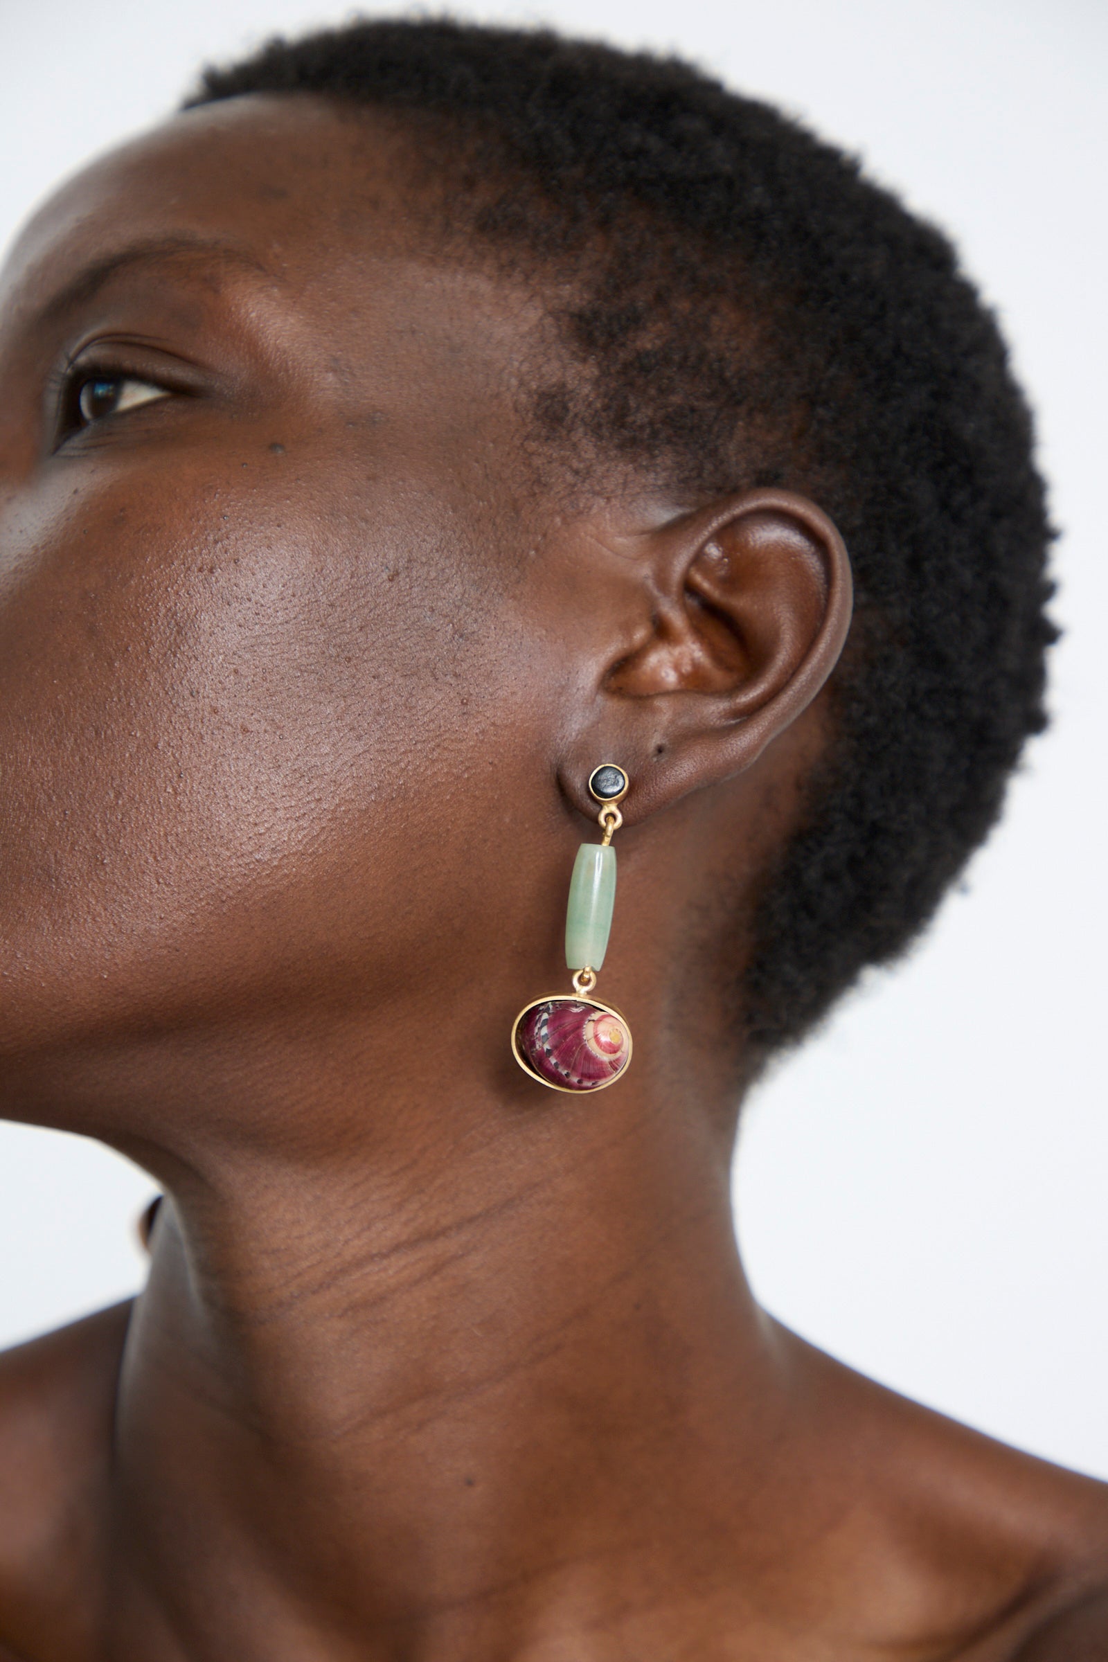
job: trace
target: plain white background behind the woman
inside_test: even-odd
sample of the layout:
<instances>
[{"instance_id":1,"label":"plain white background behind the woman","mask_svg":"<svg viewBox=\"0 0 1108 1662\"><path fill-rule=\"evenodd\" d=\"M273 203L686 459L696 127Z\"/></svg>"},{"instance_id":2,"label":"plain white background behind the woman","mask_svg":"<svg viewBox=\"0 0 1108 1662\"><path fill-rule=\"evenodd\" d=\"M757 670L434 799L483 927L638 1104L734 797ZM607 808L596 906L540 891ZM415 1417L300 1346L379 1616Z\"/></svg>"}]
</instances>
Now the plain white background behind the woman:
<instances>
[{"instance_id":1,"label":"plain white background behind the woman","mask_svg":"<svg viewBox=\"0 0 1108 1662\"><path fill-rule=\"evenodd\" d=\"M1065 532L1055 730L924 946L761 1089L739 1233L762 1300L816 1343L1108 1478L1108 8L458 10L678 48L806 116L955 236L1002 314ZM168 111L201 60L341 17L306 0L0 0L0 238L61 175ZM80 1138L0 1127L0 1343L138 1285L133 1217L150 1192Z\"/></svg>"}]
</instances>

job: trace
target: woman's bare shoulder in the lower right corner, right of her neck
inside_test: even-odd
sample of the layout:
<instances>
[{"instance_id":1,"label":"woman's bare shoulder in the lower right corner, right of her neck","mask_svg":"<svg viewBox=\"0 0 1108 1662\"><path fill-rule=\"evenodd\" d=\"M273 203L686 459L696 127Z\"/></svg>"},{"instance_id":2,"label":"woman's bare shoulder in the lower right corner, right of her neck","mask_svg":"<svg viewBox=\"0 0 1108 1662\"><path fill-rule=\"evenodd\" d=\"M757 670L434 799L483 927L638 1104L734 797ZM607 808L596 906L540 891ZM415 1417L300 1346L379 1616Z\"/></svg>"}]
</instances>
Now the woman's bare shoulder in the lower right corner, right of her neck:
<instances>
[{"instance_id":1,"label":"woman's bare shoulder in the lower right corner, right of her neck","mask_svg":"<svg viewBox=\"0 0 1108 1662\"><path fill-rule=\"evenodd\" d=\"M787 1345L824 1446L856 1473L854 1551L870 1567L895 1559L925 1652L1108 1662L1108 1484L922 1408L792 1335Z\"/></svg>"}]
</instances>

